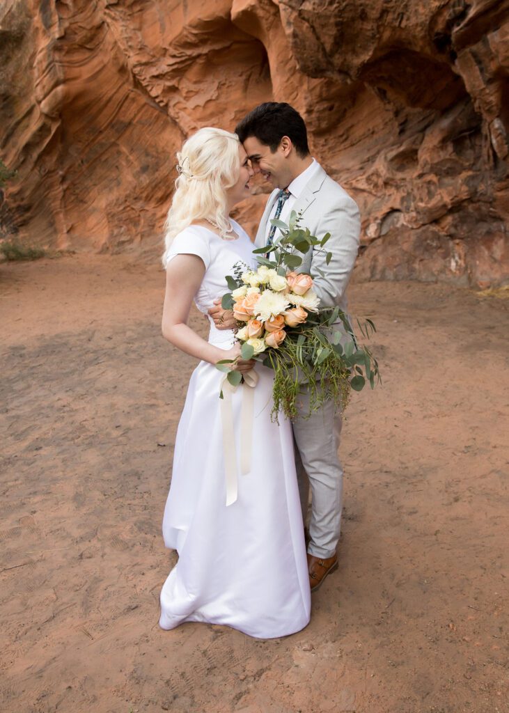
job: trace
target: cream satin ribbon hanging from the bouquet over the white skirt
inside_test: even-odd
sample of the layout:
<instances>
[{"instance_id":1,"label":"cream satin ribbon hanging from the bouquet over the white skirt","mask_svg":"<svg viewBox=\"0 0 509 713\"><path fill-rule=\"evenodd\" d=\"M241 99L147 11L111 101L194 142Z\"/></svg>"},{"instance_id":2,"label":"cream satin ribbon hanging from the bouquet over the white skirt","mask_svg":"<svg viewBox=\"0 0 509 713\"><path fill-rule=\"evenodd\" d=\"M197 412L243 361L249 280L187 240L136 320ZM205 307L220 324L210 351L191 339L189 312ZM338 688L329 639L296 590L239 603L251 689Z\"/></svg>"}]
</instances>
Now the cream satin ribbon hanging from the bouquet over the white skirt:
<instances>
[{"instance_id":1,"label":"cream satin ribbon hanging from the bouquet over the white skirt","mask_svg":"<svg viewBox=\"0 0 509 713\"><path fill-rule=\"evenodd\" d=\"M255 386L258 374L255 369L244 374L242 389L242 409L240 412L240 472L243 476L251 470L251 453L253 441L253 418L255 411ZM237 448L235 447L235 430L233 424L232 394L238 386L233 386L227 376L222 380L221 424L222 451L225 457L226 473L226 505L232 505L237 500Z\"/></svg>"}]
</instances>

